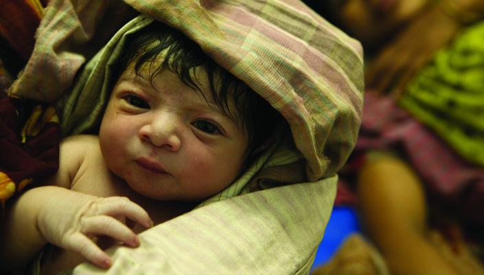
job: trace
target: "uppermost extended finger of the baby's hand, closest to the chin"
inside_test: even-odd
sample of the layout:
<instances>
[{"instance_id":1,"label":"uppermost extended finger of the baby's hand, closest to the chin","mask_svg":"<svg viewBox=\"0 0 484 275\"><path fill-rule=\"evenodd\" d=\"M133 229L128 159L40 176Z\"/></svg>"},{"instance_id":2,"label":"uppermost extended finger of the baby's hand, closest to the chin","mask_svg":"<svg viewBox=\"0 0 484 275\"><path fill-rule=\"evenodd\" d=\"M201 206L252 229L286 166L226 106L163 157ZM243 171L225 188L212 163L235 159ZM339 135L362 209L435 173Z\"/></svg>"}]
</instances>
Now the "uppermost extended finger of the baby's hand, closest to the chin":
<instances>
[{"instance_id":1,"label":"uppermost extended finger of the baby's hand, closest to the chin","mask_svg":"<svg viewBox=\"0 0 484 275\"><path fill-rule=\"evenodd\" d=\"M148 212L126 197L104 198L104 203L98 206L98 214L106 214L112 217L123 215L132 221L137 221L146 228L153 225Z\"/></svg>"}]
</instances>

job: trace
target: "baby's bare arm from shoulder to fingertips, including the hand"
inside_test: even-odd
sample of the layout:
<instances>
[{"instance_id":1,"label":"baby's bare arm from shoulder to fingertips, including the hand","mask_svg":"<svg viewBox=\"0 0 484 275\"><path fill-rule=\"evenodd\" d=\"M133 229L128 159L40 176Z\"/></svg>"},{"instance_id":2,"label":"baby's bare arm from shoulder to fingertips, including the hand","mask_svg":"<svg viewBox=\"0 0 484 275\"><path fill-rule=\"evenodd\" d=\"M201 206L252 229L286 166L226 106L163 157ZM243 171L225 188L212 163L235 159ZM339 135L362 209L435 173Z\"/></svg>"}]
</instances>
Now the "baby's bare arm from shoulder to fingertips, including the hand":
<instances>
[{"instance_id":1,"label":"baby's bare arm from shoulder to fingertips, including the hand","mask_svg":"<svg viewBox=\"0 0 484 275\"><path fill-rule=\"evenodd\" d=\"M108 267L111 259L91 237L102 234L139 245L136 234L118 219L150 226L150 217L140 206L124 197L100 198L68 189L92 141L86 136L63 141L59 170L51 181L56 186L32 188L8 207L0 224L3 269L27 263L46 243L78 252L100 267Z\"/></svg>"}]
</instances>

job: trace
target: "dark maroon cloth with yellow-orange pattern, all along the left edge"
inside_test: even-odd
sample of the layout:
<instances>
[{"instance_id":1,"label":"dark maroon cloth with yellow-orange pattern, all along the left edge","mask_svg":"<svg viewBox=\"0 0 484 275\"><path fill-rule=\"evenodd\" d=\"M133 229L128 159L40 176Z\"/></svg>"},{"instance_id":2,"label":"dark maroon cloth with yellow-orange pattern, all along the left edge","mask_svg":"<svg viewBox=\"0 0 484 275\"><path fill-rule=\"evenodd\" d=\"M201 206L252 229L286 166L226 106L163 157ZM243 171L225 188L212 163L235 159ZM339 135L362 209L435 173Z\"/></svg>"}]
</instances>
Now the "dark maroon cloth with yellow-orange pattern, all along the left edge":
<instances>
[{"instance_id":1,"label":"dark maroon cloth with yellow-orange pattern, all along the left edge","mask_svg":"<svg viewBox=\"0 0 484 275\"><path fill-rule=\"evenodd\" d=\"M46 1L41 1L45 7ZM34 48L34 34L41 21L42 11L30 1L0 0L0 34L6 43L0 54L0 210L5 201L30 186L35 179L56 173L60 131L55 112L49 112L49 122L31 119L40 131L22 135L23 126L31 118L34 107L42 113L47 104L8 98L6 91L12 84L10 74L15 74L19 64L27 61ZM2 41L3 41L2 39ZM5 43L5 42L4 42ZM8 52L10 47L14 50ZM23 60L18 60L20 54ZM8 62L7 62L8 61ZM8 70L7 70L8 69ZM50 109L49 111L52 111ZM41 126L41 127L40 127Z\"/></svg>"}]
</instances>

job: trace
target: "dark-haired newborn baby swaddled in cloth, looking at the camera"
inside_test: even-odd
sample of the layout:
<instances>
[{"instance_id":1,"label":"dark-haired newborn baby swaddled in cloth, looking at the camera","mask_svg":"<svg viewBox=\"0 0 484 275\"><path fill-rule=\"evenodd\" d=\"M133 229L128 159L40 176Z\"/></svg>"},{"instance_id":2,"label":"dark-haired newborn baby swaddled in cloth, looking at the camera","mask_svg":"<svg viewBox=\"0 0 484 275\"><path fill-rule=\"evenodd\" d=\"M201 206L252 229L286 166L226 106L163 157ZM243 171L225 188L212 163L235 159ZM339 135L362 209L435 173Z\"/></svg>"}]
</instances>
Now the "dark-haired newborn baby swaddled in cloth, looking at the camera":
<instances>
[{"instance_id":1,"label":"dark-haired newborn baby swaddled in cloth, looking at the camera","mask_svg":"<svg viewBox=\"0 0 484 275\"><path fill-rule=\"evenodd\" d=\"M113 239L137 247L137 233L229 186L281 120L161 23L134 34L113 80L99 135L63 140L58 173L47 180L54 186L28 190L5 213L3 269L25 265L47 243L55 246L44 250L43 274L82 258L111 266L102 249Z\"/></svg>"}]
</instances>

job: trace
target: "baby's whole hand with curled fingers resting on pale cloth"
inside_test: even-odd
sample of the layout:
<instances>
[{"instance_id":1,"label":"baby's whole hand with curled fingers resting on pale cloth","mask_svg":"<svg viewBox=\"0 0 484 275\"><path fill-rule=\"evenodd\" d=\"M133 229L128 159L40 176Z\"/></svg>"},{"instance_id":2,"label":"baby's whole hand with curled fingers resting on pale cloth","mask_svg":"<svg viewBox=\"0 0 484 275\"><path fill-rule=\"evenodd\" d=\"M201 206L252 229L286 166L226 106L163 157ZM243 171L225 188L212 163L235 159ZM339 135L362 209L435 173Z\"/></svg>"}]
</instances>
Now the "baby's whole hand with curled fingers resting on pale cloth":
<instances>
[{"instance_id":1,"label":"baby's whole hand with curled fingers resting on pale cloth","mask_svg":"<svg viewBox=\"0 0 484 275\"><path fill-rule=\"evenodd\" d=\"M98 267L110 267L111 259L93 241L95 236L110 236L135 248L139 239L126 219L152 226L148 213L126 197L102 198L53 188L59 194L39 210L38 229L49 243L78 252Z\"/></svg>"}]
</instances>

